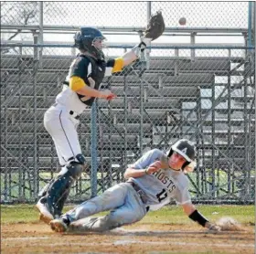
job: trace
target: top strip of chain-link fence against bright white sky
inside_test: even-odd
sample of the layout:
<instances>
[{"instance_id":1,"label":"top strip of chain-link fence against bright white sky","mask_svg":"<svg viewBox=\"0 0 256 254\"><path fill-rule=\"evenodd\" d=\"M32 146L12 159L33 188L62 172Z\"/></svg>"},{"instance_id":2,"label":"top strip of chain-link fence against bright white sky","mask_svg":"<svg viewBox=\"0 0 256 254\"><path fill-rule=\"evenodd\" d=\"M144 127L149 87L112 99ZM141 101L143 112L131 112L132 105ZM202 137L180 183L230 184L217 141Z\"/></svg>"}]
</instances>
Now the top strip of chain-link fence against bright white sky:
<instances>
[{"instance_id":1,"label":"top strip of chain-link fence against bright white sky","mask_svg":"<svg viewBox=\"0 0 256 254\"><path fill-rule=\"evenodd\" d=\"M1 2L2 25L37 25L39 2ZM145 26L148 2L42 2L44 25ZM161 9L166 27L248 27L248 2L151 2L151 12ZM27 19L27 16L29 18ZM110 18L112 16L112 18Z\"/></svg>"}]
</instances>

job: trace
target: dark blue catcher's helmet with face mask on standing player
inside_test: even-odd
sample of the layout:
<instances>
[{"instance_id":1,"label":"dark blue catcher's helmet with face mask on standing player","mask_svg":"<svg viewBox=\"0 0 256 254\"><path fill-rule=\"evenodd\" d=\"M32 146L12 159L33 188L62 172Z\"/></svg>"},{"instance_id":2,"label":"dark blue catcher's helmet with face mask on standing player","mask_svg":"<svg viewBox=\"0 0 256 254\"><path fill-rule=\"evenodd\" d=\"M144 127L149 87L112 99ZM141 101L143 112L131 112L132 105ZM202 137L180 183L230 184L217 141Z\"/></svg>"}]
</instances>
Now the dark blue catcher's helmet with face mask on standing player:
<instances>
[{"instance_id":1,"label":"dark blue catcher's helmet with face mask on standing player","mask_svg":"<svg viewBox=\"0 0 256 254\"><path fill-rule=\"evenodd\" d=\"M80 31L75 34L74 39L76 48L88 51L97 59L104 59L101 48L94 45L95 40L105 39L100 30L93 27L80 27Z\"/></svg>"}]
</instances>

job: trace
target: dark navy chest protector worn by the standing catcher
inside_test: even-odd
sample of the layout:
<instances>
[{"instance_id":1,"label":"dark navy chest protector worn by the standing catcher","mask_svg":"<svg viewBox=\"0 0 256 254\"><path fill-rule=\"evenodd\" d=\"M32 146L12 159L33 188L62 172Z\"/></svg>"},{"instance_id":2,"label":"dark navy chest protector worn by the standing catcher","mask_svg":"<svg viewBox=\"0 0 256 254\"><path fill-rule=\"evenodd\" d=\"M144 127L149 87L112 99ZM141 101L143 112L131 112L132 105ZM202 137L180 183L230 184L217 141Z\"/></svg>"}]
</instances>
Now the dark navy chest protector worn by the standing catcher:
<instances>
[{"instance_id":1,"label":"dark navy chest protector worn by the standing catcher","mask_svg":"<svg viewBox=\"0 0 256 254\"><path fill-rule=\"evenodd\" d=\"M95 81L95 86L94 89L95 90L99 90L100 86L101 86L101 82L104 79L105 76L105 71L106 71L106 62L105 61L101 61L101 60L95 60L94 58L91 58L89 56L86 55L82 55L80 54L80 57L82 58L88 58L91 62L91 79L93 79ZM79 98L83 98L84 95L80 95L78 94ZM91 97L90 100L87 101L81 101L82 103L91 106L93 101L95 100L95 97Z\"/></svg>"}]
</instances>

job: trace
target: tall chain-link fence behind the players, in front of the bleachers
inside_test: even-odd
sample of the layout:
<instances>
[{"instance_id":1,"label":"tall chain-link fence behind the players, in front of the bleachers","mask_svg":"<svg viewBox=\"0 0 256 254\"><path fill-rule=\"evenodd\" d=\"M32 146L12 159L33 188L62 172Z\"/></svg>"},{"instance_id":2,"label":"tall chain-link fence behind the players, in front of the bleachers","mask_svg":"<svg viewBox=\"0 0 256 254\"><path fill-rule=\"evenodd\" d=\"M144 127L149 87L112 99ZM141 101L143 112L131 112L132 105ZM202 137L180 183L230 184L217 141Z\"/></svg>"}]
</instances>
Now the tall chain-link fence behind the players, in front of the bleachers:
<instances>
[{"instance_id":1,"label":"tall chain-link fence behind the players, in front of the bleachers","mask_svg":"<svg viewBox=\"0 0 256 254\"><path fill-rule=\"evenodd\" d=\"M1 2L1 23L23 24L16 12L39 8L37 2L23 4ZM112 5L111 11L105 4ZM77 20L79 15L73 15L84 10L86 25L117 27L109 18L115 10L116 16L123 16L118 26L144 26L146 2L124 4L44 2L44 25L63 25L60 14L67 17L64 25L84 25ZM9 6L14 7L7 18ZM211 10L207 18L203 7ZM232 3L232 8L229 3L152 2L151 8L152 12L168 11L168 16L164 13L166 26L176 26L187 8L192 10L187 26L226 27L227 21L229 27L246 27L248 22L248 3L242 2ZM58 15L53 16L53 10ZM97 15L95 10L99 10ZM130 12L137 18L127 18ZM87 17L86 13L95 15ZM190 19L188 13L184 16ZM32 25L39 14L34 18ZM121 44L110 46L106 56L122 55L126 49ZM61 90L75 53L70 45L5 43L1 47L1 202L34 202L38 190L60 170L43 115ZM104 79L101 88L111 89L118 97L110 102L97 100L81 115L80 144L91 166L72 187L69 200L85 200L122 182L127 165L144 152L167 150L171 143L187 138L197 144L197 170L187 175L195 201L253 202L254 53L253 48L237 46L153 44L149 62L136 62Z\"/></svg>"}]
</instances>

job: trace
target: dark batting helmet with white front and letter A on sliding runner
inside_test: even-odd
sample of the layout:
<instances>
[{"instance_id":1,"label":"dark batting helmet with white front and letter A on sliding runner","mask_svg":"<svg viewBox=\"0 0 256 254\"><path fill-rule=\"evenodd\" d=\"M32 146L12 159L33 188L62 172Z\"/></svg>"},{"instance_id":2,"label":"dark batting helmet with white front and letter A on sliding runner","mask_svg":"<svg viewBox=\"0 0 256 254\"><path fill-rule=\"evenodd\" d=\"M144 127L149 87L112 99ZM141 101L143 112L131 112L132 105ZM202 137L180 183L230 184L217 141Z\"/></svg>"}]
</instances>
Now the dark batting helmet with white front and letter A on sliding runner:
<instances>
[{"instance_id":1,"label":"dark batting helmet with white front and letter A on sliding runner","mask_svg":"<svg viewBox=\"0 0 256 254\"><path fill-rule=\"evenodd\" d=\"M193 169L196 166L195 157L196 157L196 150L193 143L186 139L182 139L177 141L171 146L170 151L167 153L167 156L170 157L174 152L179 153L186 159L186 163L182 165L182 169L185 169L187 165L193 164ZM193 171L192 169L192 171Z\"/></svg>"}]
</instances>

